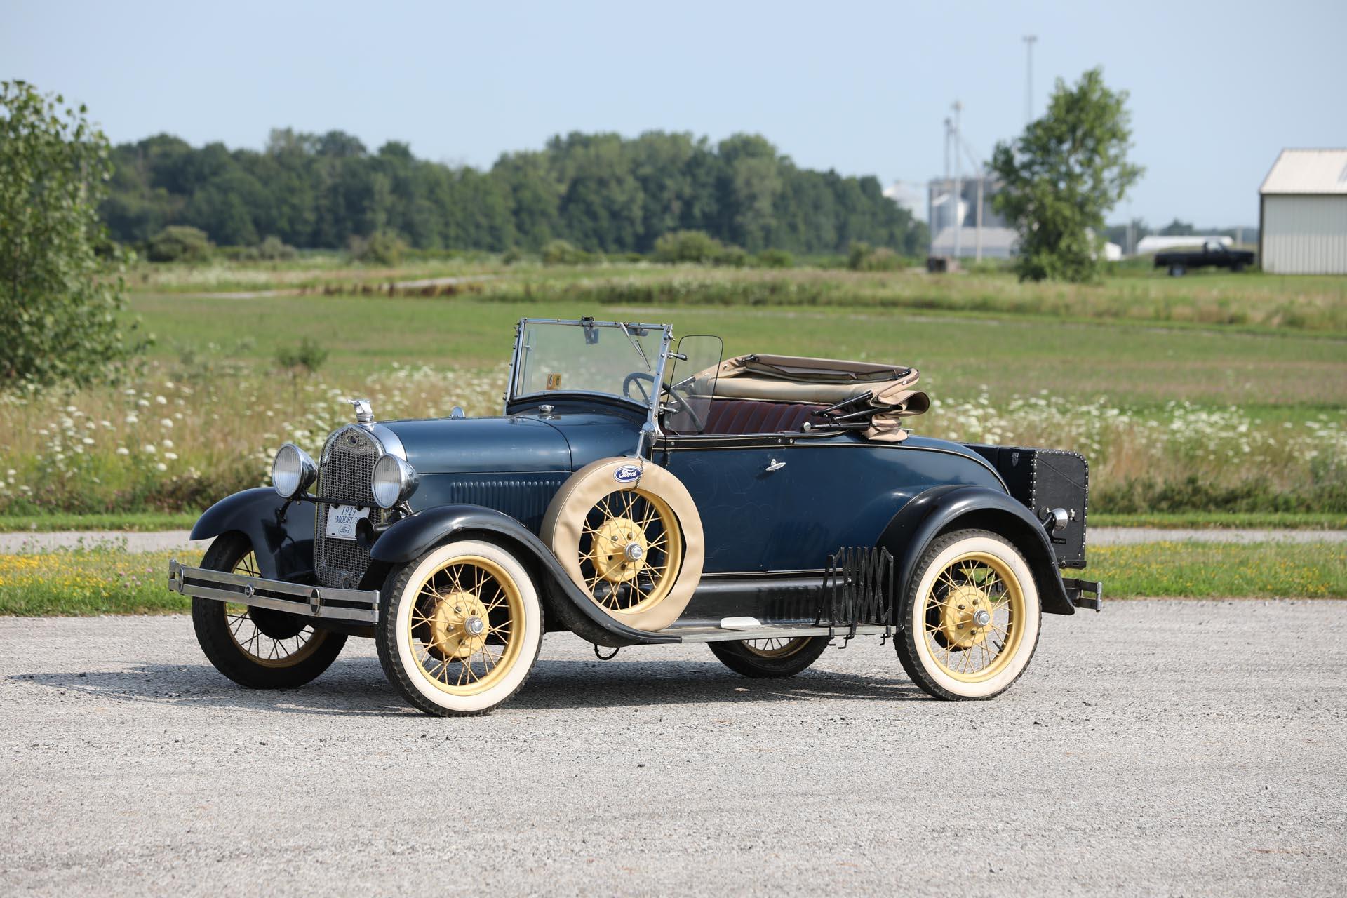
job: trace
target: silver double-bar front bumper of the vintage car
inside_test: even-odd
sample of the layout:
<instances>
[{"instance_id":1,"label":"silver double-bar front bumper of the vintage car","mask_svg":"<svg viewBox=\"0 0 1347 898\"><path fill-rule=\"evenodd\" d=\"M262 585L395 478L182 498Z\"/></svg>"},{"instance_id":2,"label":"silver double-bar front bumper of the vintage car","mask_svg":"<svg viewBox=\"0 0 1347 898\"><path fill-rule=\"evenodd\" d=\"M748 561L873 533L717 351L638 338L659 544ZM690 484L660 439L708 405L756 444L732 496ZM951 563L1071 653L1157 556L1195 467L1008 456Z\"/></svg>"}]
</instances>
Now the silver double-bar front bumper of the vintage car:
<instances>
[{"instance_id":1,"label":"silver double-bar front bumper of the vintage car","mask_svg":"<svg viewBox=\"0 0 1347 898\"><path fill-rule=\"evenodd\" d=\"M287 611L306 618L379 622L376 590L338 590L326 586L265 580L247 574L225 574L190 568L168 561L168 588L182 595L217 602L233 602L255 609Z\"/></svg>"}]
</instances>

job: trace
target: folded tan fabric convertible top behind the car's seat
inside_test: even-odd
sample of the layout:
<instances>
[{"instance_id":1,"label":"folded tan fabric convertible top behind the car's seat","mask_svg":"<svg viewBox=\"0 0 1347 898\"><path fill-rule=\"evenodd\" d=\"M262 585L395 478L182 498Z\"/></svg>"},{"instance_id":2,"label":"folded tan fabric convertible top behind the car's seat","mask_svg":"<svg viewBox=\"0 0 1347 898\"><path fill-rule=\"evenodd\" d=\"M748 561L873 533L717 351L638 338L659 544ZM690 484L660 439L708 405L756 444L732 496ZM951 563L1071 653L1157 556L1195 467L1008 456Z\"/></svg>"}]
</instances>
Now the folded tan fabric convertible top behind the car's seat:
<instances>
[{"instance_id":1,"label":"folded tan fabric convertible top behind the car's seat","mask_svg":"<svg viewBox=\"0 0 1347 898\"><path fill-rule=\"evenodd\" d=\"M835 405L869 392L869 407L882 409L870 419L867 439L898 442L907 438L900 420L931 408L929 397L912 389L917 369L877 362L799 355L737 355L696 374L695 393L717 399L760 399L777 403ZM700 388L700 389L698 389ZM853 409L859 411L859 409Z\"/></svg>"}]
</instances>

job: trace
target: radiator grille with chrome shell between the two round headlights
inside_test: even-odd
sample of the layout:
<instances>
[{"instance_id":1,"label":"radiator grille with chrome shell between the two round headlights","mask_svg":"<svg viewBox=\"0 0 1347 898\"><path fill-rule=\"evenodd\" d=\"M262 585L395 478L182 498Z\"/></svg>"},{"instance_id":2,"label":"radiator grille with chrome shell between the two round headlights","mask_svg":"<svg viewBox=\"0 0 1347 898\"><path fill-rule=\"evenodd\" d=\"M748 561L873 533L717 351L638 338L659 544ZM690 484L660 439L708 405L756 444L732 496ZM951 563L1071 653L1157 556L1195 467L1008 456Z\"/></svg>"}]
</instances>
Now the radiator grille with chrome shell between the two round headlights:
<instances>
[{"instance_id":1,"label":"radiator grille with chrome shell between the two round headlights","mask_svg":"<svg viewBox=\"0 0 1347 898\"><path fill-rule=\"evenodd\" d=\"M327 439L318 473L318 495L339 505L373 509L369 475L384 447L362 427L343 427ZM369 567L369 551L356 540L329 540L327 506L318 504L314 522L314 568L318 583L331 587L354 587Z\"/></svg>"}]
</instances>

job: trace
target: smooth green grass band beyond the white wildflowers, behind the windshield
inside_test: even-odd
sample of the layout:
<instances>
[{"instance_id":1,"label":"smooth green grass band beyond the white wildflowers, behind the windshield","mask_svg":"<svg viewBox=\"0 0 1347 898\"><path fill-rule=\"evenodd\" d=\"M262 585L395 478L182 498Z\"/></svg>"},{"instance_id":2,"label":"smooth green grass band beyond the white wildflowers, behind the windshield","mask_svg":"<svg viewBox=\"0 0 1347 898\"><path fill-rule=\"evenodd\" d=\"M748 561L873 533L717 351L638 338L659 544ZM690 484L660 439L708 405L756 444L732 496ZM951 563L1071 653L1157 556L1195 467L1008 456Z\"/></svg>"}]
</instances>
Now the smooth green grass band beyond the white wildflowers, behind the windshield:
<instances>
[{"instance_id":1,"label":"smooth green grass band beyond the white wildflowers, behind the windshield","mask_svg":"<svg viewBox=\"0 0 1347 898\"><path fill-rule=\"evenodd\" d=\"M1049 390L1129 405L1231 404L1296 420L1347 405L1347 338L1156 327L912 310L595 307L478 298L141 295L132 310L155 354L230 357L272 366L280 346L310 337L331 350L325 373L364 376L392 364L490 368L506 361L528 316L621 316L671 322L676 334L718 334L725 354L769 351L915 365L938 397L983 388L994 401Z\"/></svg>"}]
</instances>

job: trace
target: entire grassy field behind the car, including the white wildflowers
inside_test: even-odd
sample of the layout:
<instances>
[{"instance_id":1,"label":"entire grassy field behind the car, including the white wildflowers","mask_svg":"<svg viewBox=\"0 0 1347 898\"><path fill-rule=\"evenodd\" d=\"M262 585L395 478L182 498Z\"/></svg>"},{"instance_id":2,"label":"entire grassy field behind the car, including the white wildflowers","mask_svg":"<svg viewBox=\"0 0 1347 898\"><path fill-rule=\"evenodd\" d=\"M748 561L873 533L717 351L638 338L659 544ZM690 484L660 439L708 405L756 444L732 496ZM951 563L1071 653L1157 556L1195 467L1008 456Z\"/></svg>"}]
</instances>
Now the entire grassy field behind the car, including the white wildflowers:
<instances>
[{"instance_id":1,"label":"entire grassy field behind the car, including the white wildflowers","mask_svg":"<svg viewBox=\"0 0 1347 898\"><path fill-rule=\"evenodd\" d=\"M1347 514L1347 333L1307 324L1312 310L1347 308L1347 279L1126 275L1061 287L1008 275L454 265L494 279L453 296L136 295L131 314L158 339L143 373L75 394L0 400L9 435L0 447L0 514L201 508L263 482L287 439L317 451L349 420L349 396L370 397L381 417L445 415L453 405L498 413L515 322L583 314L715 333L726 355L916 365L935 400L912 421L916 431L1083 451L1095 513ZM248 271L228 268L210 281L195 269L156 269L144 280L176 291L172 277L199 288ZM329 273L346 289L357 276L388 283L438 271ZM260 284L325 276L302 267L253 273ZM818 296L779 295L772 284L783 283ZM800 302L757 306L758 289ZM890 295L904 302L876 299ZM967 299L989 295L1005 302ZM603 304L613 299L622 302ZM1200 320L1207 303L1226 300L1303 315ZM1129 303L1140 303L1140 320L1095 314ZM321 372L276 370L276 350L306 337L330 349Z\"/></svg>"}]
</instances>

